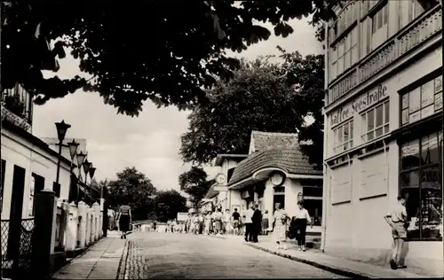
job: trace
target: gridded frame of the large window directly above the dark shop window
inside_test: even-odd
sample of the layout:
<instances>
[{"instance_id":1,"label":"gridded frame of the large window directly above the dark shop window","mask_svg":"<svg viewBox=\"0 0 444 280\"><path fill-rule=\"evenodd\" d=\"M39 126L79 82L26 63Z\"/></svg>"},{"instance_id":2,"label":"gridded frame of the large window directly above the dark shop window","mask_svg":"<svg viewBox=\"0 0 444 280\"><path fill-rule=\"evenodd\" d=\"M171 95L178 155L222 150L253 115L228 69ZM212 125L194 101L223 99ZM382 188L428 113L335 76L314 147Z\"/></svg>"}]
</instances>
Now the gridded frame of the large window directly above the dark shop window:
<instances>
[{"instance_id":1,"label":"gridded frame of the large window directly above the dark shop window","mask_svg":"<svg viewBox=\"0 0 444 280\"><path fill-rule=\"evenodd\" d=\"M431 104L429 105L424 105L423 106L423 88L425 85L427 85L428 83L432 83L432 96L433 96L433 101ZM437 89L437 85L439 85L438 89ZM409 112L411 105L410 105L410 94L414 93L416 90L419 90L419 108L416 109L415 111ZM406 98L407 100L407 105L404 105L404 98ZM440 99L439 99L440 98ZM437 106L437 100L440 100L440 106ZM422 116L423 110L426 108L432 108L433 112L426 115L426 116ZM440 111L442 111L442 75L435 75L433 74L431 77L424 79L424 81L421 81L419 84L416 84L415 87L405 90L404 92L400 93L400 127L404 127L407 126L409 124L412 123L416 123L417 121L421 121L424 120L425 118L431 117L432 115L436 114L436 113L440 113ZM404 112L407 113L407 121L404 122ZM411 115L414 115L418 113L419 117L417 120L413 120L411 121Z\"/></svg>"}]
</instances>

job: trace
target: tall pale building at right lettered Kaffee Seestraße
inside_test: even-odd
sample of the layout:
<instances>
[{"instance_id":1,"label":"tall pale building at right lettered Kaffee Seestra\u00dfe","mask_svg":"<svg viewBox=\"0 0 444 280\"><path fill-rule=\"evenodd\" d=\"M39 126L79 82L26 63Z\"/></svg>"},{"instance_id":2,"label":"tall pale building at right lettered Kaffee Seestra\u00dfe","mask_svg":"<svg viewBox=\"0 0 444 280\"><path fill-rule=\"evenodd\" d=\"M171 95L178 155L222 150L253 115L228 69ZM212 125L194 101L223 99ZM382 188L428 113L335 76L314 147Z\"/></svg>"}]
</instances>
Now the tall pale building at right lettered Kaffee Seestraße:
<instances>
[{"instance_id":1,"label":"tall pale building at right lettered Kaffee Seestra\u00dfe","mask_svg":"<svg viewBox=\"0 0 444 280\"><path fill-rule=\"evenodd\" d=\"M405 264L442 275L442 8L348 1L326 28L322 247L386 265L407 198Z\"/></svg>"}]
</instances>

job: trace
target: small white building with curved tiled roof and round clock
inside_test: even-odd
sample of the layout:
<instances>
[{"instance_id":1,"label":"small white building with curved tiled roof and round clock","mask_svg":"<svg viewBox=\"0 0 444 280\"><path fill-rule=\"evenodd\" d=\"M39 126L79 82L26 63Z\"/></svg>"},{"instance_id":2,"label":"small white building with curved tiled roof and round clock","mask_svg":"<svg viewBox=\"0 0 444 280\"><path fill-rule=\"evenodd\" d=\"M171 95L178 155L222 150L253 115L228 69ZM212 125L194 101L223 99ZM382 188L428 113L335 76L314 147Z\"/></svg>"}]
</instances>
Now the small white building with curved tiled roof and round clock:
<instances>
[{"instance_id":1,"label":"small white building with curved tiled roof and round clock","mask_svg":"<svg viewBox=\"0 0 444 280\"><path fill-rule=\"evenodd\" d=\"M222 172L215 190L226 188L222 196L231 212L258 203L263 213L273 214L279 202L292 216L297 199L304 199L310 214L321 221L322 172L299 150L296 134L252 131L249 155L219 155L216 166Z\"/></svg>"}]
</instances>

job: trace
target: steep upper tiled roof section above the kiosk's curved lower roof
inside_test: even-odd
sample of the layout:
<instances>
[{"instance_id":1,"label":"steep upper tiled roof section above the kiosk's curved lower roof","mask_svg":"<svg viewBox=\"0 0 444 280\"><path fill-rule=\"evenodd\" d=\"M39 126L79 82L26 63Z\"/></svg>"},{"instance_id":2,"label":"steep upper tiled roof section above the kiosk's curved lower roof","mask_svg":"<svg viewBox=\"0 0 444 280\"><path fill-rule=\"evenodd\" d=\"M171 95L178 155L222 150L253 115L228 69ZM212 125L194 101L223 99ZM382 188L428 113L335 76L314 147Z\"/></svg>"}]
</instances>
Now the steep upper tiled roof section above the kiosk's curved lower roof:
<instances>
[{"instance_id":1,"label":"steep upper tiled roof section above the kiosk's curved lower roof","mask_svg":"<svg viewBox=\"0 0 444 280\"><path fill-rule=\"evenodd\" d=\"M254 152L261 152L274 147L297 144L297 134L253 130L251 140L254 144Z\"/></svg>"}]
</instances>

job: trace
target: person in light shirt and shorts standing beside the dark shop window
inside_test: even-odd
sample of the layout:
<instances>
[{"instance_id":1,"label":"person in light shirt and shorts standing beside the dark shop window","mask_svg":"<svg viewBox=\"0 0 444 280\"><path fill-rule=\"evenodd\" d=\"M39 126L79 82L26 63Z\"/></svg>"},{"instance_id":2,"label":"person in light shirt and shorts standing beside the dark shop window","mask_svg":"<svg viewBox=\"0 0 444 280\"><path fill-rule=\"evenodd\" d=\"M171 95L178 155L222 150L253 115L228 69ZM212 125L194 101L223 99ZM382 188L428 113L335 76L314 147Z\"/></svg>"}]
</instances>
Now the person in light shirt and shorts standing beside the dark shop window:
<instances>
[{"instance_id":1,"label":"person in light shirt and shorts standing beside the dark shop window","mask_svg":"<svg viewBox=\"0 0 444 280\"><path fill-rule=\"evenodd\" d=\"M392 237L394 241L394 247L392 249L392 260L390 261L390 267L392 269L406 268L400 263L400 256L402 252L402 246L407 238L407 210L406 199L399 196L398 203L393 207L392 212L384 216L385 222L392 227Z\"/></svg>"}]
</instances>

